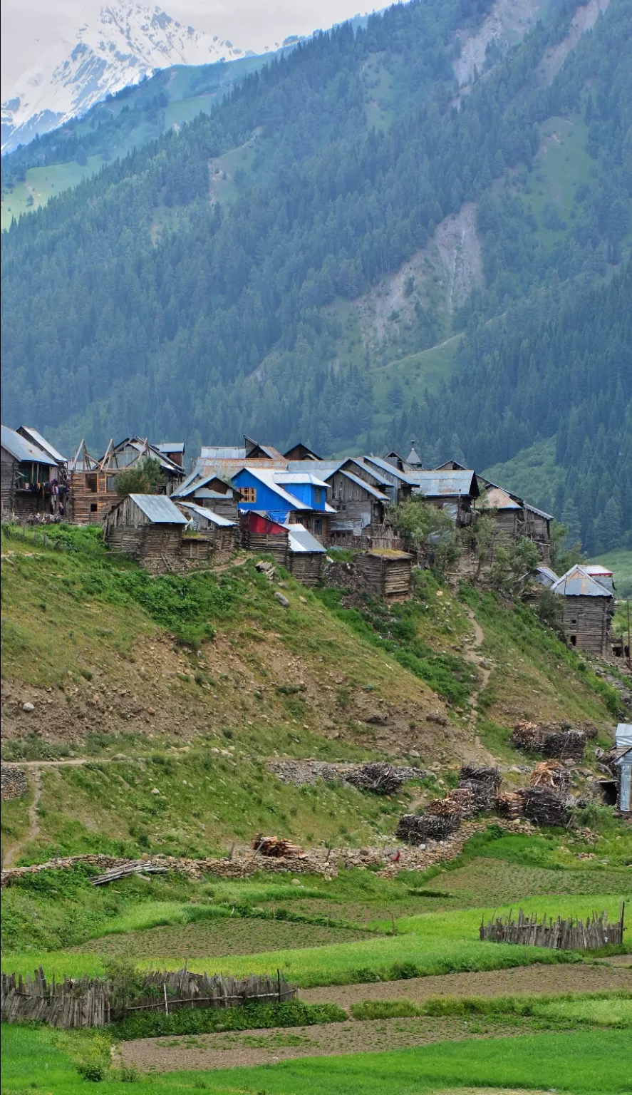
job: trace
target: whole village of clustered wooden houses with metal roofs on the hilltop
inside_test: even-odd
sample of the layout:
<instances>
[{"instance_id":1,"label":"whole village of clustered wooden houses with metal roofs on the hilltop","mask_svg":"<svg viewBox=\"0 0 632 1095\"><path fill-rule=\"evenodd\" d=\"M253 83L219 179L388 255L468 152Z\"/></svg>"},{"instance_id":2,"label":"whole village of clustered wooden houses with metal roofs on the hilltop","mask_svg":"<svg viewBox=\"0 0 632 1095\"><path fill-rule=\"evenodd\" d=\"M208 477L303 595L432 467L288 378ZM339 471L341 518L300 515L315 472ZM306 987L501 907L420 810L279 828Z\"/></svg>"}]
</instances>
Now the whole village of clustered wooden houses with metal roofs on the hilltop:
<instances>
[{"instance_id":1,"label":"whole village of clustered wooden houses with metal roofs on the hilltop","mask_svg":"<svg viewBox=\"0 0 632 1095\"><path fill-rule=\"evenodd\" d=\"M159 469L151 493L122 497L117 477L148 460ZM187 473L183 441L127 437L99 458L82 441L68 459L36 429L2 426L2 519L102 525L113 551L154 574L215 567L242 549L272 555L309 586L321 579L328 551L345 549L354 552L360 586L393 601L411 596L413 567L433 565L438 546L437 534L412 544L395 527L395 508L420 499L441 510L468 544L466 574L480 568L483 515L493 520L487 564L498 545L530 541L538 562L522 576L525 599L537 601L544 590L562 598L571 646L625 653L612 636L612 572L575 564L555 574L550 514L457 461L424 468L414 440L405 458L390 451L323 460L301 442L281 453L244 437L242 446L203 446L191 464Z\"/></svg>"}]
</instances>

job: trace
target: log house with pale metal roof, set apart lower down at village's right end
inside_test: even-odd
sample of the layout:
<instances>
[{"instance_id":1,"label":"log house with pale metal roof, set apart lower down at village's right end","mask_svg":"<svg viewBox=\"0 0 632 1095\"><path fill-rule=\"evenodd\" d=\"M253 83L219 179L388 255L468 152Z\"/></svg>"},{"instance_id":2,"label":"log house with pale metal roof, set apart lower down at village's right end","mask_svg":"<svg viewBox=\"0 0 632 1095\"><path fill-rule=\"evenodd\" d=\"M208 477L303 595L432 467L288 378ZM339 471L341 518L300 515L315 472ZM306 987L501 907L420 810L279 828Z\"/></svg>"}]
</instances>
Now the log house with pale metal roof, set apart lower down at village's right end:
<instances>
[{"instance_id":1,"label":"log house with pale metal roof, set apart lower down at village's right end","mask_svg":"<svg viewBox=\"0 0 632 1095\"><path fill-rule=\"evenodd\" d=\"M562 600L562 627L571 646L609 654L614 599L583 566L572 566L551 586Z\"/></svg>"}]
</instances>

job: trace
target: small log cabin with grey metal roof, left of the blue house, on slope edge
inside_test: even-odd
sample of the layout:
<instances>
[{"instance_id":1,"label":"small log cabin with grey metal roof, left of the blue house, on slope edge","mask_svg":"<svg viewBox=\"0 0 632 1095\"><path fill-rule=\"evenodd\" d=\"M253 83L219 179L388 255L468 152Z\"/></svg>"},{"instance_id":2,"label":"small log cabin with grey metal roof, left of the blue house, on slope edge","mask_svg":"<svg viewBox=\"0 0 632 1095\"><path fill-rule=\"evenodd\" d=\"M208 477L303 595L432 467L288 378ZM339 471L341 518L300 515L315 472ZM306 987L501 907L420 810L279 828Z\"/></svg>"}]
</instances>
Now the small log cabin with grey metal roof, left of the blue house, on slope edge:
<instances>
[{"instance_id":1,"label":"small log cabin with grey metal roof, left of the blue house, on slope edge","mask_svg":"<svg viewBox=\"0 0 632 1095\"><path fill-rule=\"evenodd\" d=\"M171 498L129 494L105 516L107 545L125 552L153 573L182 568L182 533L187 519ZM209 548L206 544L206 556ZM197 557L197 556L196 556Z\"/></svg>"}]
</instances>

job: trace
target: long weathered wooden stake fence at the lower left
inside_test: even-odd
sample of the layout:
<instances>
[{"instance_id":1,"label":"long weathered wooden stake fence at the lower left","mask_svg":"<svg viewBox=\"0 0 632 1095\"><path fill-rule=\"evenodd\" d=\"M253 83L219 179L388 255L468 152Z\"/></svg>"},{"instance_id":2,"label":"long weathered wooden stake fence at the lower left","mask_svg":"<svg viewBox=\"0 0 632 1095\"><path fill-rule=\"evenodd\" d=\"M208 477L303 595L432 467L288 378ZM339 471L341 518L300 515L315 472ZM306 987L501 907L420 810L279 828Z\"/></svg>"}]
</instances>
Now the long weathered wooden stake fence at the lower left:
<instances>
[{"instance_id":1,"label":"long weathered wooden stake fence at the lower left","mask_svg":"<svg viewBox=\"0 0 632 1095\"><path fill-rule=\"evenodd\" d=\"M103 978L53 978L48 982L39 967L33 977L1 975L0 1016L3 1023L37 1019L64 1028L94 1027L137 1012L169 1015L181 1007L235 1007L252 1001L280 1004L296 993L278 970L276 977L251 973L244 980L192 973L186 968L149 971L131 991L125 982Z\"/></svg>"}]
</instances>

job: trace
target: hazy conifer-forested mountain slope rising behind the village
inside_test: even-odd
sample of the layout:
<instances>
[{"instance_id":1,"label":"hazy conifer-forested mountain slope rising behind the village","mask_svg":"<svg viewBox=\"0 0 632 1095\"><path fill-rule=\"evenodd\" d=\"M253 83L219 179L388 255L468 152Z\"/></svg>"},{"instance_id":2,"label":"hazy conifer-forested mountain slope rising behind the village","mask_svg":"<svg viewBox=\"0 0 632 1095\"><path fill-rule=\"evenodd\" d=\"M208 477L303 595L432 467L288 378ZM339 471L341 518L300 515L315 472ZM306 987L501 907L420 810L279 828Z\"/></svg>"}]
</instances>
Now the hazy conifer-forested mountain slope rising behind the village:
<instances>
[{"instance_id":1,"label":"hazy conifer-forested mountain slope rising behind the village","mask_svg":"<svg viewBox=\"0 0 632 1095\"><path fill-rule=\"evenodd\" d=\"M621 276L608 298L607 358L599 285L629 253L632 4L611 0L549 83L542 60L576 10L560 0L506 57L490 58L459 105L455 32L475 31L491 7L413 0L366 28L319 35L210 116L23 217L4 237L5 416L66 447L130 430L195 447L246 430L332 452L404 443L412 431L438 458L458 442L478 466L555 437L558 508L579 509L589 485L598 503L581 517L584 537L611 497L628 527L616 483L631 283ZM541 127L558 116L586 127L591 162L564 220L554 203L533 211ZM222 157L240 146L248 159L227 201ZM388 278L467 201L484 285L453 316L467 328L457 379L447 399L398 401L384 423L369 354L341 353L332 306ZM570 336L574 316L584 336ZM422 302L409 327L418 350L451 333Z\"/></svg>"}]
</instances>

